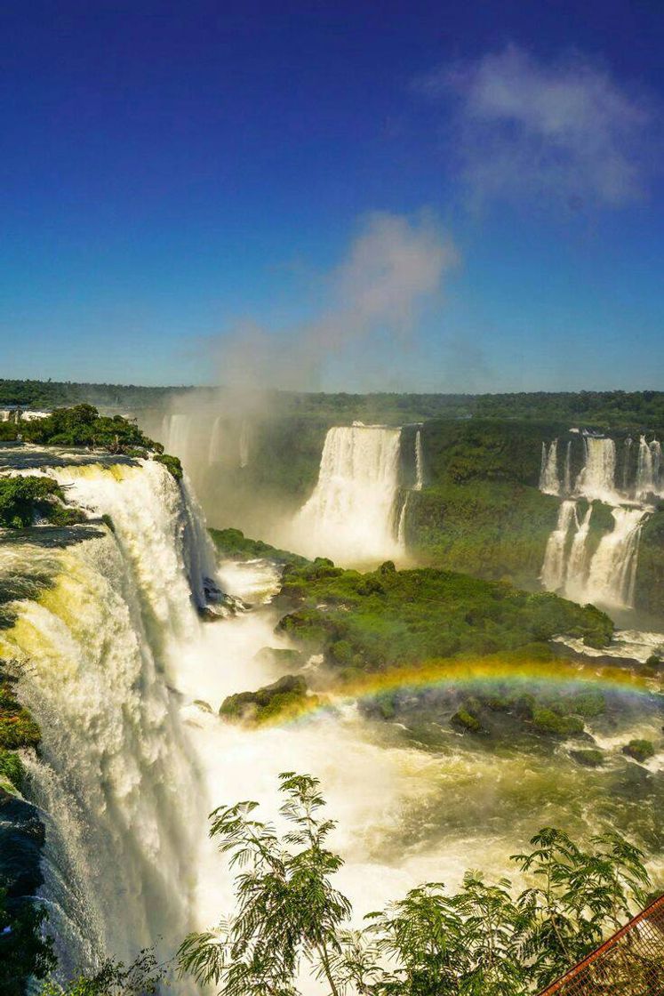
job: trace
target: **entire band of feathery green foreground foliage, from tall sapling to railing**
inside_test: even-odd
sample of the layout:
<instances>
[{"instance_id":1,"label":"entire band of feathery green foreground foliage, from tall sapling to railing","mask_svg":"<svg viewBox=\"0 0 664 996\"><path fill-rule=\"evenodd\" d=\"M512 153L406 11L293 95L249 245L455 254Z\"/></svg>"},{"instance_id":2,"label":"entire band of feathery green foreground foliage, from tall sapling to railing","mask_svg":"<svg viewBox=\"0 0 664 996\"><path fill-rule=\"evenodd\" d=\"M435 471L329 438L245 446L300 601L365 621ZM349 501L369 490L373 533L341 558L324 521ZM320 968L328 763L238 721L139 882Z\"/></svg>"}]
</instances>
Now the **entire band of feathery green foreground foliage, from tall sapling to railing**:
<instances>
[{"instance_id":1,"label":"entire band of feathery green foreground foliage, from tall sapling to railing","mask_svg":"<svg viewBox=\"0 0 664 996\"><path fill-rule=\"evenodd\" d=\"M332 885L341 866L326 847L334 826L311 776L281 776L282 814L295 831L280 838L255 818L256 803L212 814L211 836L232 854L237 909L230 919L189 935L183 972L225 996L297 996L301 966L332 996L529 996L593 950L643 904L649 884L643 855L617 834L583 851L546 828L532 850L512 859L529 882L464 876L458 892L441 882L411 889L349 930L348 900ZM623 996L640 992L621 989Z\"/></svg>"}]
</instances>

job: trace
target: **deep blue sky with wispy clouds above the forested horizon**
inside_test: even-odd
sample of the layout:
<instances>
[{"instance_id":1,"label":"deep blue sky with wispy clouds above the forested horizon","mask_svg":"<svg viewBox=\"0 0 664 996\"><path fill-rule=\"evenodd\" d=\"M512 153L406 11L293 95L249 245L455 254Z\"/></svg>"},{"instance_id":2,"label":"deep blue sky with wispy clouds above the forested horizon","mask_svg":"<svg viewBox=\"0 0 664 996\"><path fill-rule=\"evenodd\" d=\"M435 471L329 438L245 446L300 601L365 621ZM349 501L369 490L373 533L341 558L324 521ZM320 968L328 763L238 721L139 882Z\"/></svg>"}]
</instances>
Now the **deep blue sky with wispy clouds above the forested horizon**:
<instances>
[{"instance_id":1,"label":"deep blue sky with wispy clouds above the forested horizon","mask_svg":"<svg viewBox=\"0 0 664 996\"><path fill-rule=\"evenodd\" d=\"M10 0L0 375L664 387L663 43L658 0Z\"/></svg>"}]
</instances>

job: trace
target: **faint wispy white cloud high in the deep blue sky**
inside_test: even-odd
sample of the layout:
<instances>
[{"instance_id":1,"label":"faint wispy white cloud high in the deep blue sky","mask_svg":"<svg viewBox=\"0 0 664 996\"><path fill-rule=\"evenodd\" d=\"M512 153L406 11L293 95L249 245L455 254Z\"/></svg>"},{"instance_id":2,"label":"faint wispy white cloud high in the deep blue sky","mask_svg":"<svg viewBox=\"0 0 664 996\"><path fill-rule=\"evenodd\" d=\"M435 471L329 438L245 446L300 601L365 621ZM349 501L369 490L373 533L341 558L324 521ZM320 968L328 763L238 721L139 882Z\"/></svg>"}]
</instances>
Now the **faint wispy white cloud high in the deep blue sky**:
<instances>
[{"instance_id":1,"label":"faint wispy white cloud high in the deep blue sky","mask_svg":"<svg viewBox=\"0 0 664 996\"><path fill-rule=\"evenodd\" d=\"M654 111L579 55L547 64L509 45L425 89L457 99L454 151L479 202L553 195L616 207L645 193Z\"/></svg>"}]
</instances>

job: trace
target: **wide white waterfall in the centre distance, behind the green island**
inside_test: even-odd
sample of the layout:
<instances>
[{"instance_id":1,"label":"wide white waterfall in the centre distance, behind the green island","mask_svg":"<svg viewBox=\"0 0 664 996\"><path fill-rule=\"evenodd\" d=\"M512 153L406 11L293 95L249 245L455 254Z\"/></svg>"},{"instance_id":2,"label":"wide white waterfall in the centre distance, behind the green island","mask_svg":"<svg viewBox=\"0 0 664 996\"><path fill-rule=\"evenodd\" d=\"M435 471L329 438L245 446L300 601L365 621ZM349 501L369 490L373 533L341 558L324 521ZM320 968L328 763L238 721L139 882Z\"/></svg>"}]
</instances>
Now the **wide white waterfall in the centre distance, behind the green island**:
<instances>
[{"instance_id":1,"label":"wide white waterfall in the centre distance, behind the green island","mask_svg":"<svg viewBox=\"0 0 664 996\"><path fill-rule=\"evenodd\" d=\"M341 563L401 555L394 522L400 445L399 428L328 431L318 483L293 523L299 549Z\"/></svg>"}]
</instances>

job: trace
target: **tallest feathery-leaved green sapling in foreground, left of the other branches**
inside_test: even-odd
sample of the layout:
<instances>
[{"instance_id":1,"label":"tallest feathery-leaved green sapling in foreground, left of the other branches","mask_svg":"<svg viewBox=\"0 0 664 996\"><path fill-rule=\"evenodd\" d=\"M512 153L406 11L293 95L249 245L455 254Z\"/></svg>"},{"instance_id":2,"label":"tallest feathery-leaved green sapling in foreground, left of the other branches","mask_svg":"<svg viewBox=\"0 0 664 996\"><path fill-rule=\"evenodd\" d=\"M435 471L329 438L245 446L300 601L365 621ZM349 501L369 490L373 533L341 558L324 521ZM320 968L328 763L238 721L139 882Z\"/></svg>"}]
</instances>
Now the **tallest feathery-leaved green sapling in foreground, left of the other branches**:
<instances>
[{"instance_id":1,"label":"tallest feathery-leaved green sapling in foreground, left of the other branches","mask_svg":"<svg viewBox=\"0 0 664 996\"><path fill-rule=\"evenodd\" d=\"M231 852L237 914L215 932L190 934L180 947L183 971L199 984L221 985L226 996L292 994L303 958L315 961L332 994L337 931L350 903L332 886L341 859L327 848L334 824L322 819L325 800L319 781L287 772L280 776L286 801L282 816L292 830L281 840L274 828L253 816L253 802L224 806L212 814L210 837Z\"/></svg>"}]
</instances>

